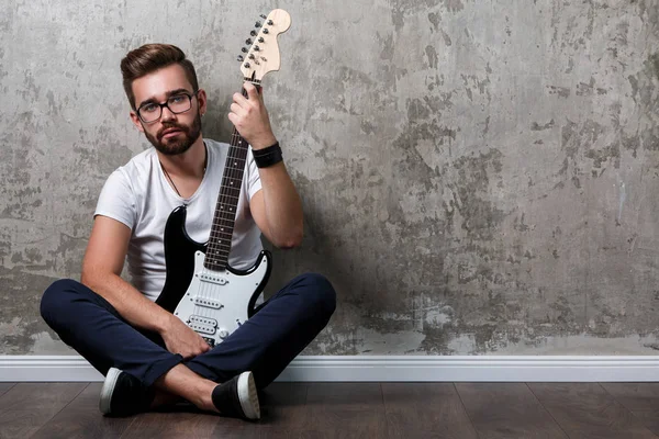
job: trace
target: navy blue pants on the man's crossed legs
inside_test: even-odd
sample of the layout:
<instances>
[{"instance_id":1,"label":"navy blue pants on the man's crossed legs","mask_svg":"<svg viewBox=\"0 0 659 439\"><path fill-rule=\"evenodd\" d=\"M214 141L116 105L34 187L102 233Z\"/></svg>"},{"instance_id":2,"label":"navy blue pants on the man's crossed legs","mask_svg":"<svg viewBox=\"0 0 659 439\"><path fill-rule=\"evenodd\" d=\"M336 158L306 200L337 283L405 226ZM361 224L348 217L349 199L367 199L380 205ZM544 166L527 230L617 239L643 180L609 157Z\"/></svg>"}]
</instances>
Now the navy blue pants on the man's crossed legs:
<instances>
[{"instance_id":1,"label":"navy blue pants on the man's crossed legs","mask_svg":"<svg viewBox=\"0 0 659 439\"><path fill-rule=\"evenodd\" d=\"M131 326L108 301L70 279L46 290L41 314L103 375L114 367L152 385L183 363L214 382L252 371L263 389L327 325L335 306L336 294L324 277L299 275L224 341L190 360L169 352L157 333Z\"/></svg>"}]
</instances>

